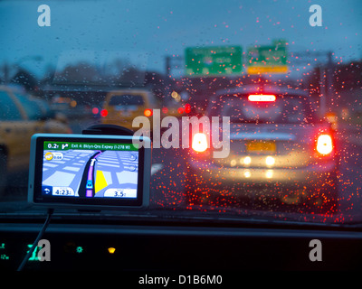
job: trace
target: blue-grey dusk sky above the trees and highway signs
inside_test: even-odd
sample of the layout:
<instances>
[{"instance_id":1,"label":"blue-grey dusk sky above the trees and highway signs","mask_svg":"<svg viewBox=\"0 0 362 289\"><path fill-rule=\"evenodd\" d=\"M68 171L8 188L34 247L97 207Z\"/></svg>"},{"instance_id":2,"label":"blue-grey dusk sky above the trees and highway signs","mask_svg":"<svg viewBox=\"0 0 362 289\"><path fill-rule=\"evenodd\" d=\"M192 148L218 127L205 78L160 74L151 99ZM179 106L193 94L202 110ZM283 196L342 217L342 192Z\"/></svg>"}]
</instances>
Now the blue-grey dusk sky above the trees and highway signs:
<instances>
[{"instance_id":1,"label":"blue-grey dusk sky above the trees and highway signs","mask_svg":"<svg viewBox=\"0 0 362 289\"><path fill-rule=\"evenodd\" d=\"M51 8L50 27L37 23L42 4ZM315 4L321 27L310 26ZM285 39L289 51L333 51L334 61L351 61L362 58L361 33L359 0L1 1L0 68L20 62L41 75L49 65L120 57L163 72L165 56L183 56L186 47L240 45L245 52L274 39Z\"/></svg>"}]
</instances>

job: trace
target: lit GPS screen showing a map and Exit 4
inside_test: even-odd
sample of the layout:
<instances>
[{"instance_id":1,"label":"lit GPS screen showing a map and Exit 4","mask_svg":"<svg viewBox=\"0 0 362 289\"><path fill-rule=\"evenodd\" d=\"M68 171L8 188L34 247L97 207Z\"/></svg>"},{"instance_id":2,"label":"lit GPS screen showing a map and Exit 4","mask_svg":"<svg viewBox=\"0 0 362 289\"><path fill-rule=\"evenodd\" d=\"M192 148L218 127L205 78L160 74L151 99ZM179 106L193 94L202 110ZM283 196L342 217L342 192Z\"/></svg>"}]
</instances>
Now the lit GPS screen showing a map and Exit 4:
<instances>
[{"instance_id":1,"label":"lit GPS screen showing a map and Exit 4","mask_svg":"<svg viewBox=\"0 0 362 289\"><path fill-rule=\"evenodd\" d=\"M42 195L137 198L135 144L44 142Z\"/></svg>"}]
</instances>

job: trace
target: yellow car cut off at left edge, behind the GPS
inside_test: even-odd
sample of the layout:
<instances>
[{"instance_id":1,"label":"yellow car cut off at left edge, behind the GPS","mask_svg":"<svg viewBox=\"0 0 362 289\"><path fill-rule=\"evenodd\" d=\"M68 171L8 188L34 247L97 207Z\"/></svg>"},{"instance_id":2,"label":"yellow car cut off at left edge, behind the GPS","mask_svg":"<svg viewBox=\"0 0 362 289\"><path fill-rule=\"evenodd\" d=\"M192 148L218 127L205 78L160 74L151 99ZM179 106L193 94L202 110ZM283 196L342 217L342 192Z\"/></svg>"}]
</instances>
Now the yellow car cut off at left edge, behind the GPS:
<instances>
[{"instance_id":1,"label":"yellow car cut off at left edge, behind the GPS","mask_svg":"<svg viewBox=\"0 0 362 289\"><path fill-rule=\"evenodd\" d=\"M71 133L43 107L43 100L23 90L0 86L0 196L12 174L27 172L30 139L35 133Z\"/></svg>"}]
</instances>

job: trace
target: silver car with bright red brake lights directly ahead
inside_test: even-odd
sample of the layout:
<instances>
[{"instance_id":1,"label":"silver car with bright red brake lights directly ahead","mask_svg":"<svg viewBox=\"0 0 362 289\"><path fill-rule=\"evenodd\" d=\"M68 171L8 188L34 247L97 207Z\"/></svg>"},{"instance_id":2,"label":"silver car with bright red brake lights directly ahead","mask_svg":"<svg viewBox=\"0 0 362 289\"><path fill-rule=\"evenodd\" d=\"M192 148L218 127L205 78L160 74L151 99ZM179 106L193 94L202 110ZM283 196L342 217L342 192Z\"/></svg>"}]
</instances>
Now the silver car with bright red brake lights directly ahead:
<instances>
[{"instance_id":1,"label":"silver car with bright red brake lights directly ahead","mask_svg":"<svg viewBox=\"0 0 362 289\"><path fill-rule=\"evenodd\" d=\"M306 93L294 89L245 86L217 92L206 115L230 117L230 153L213 158L211 145L192 139L189 205L217 205L226 197L240 204L244 197L336 210L335 131L313 107Z\"/></svg>"}]
</instances>

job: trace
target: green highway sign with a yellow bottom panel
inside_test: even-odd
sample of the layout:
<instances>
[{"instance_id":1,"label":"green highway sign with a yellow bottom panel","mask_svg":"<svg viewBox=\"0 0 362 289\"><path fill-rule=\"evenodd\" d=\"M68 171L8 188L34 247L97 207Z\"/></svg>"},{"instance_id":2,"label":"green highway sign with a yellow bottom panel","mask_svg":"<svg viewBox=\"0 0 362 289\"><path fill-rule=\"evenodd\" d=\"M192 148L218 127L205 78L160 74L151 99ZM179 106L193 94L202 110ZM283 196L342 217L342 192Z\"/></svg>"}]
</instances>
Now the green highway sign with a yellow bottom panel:
<instances>
[{"instance_id":1,"label":"green highway sign with a yellow bottom panel","mask_svg":"<svg viewBox=\"0 0 362 289\"><path fill-rule=\"evenodd\" d=\"M248 74L287 73L287 48L285 45L252 47L248 50Z\"/></svg>"}]
</instances>

